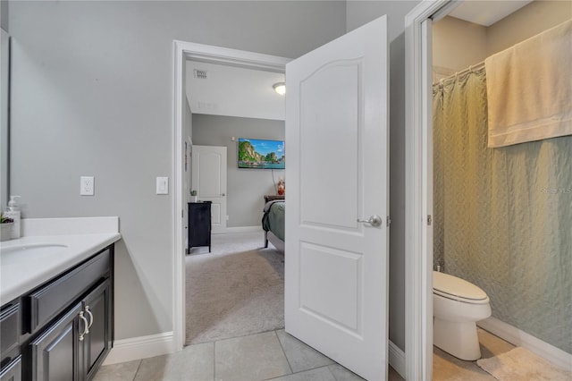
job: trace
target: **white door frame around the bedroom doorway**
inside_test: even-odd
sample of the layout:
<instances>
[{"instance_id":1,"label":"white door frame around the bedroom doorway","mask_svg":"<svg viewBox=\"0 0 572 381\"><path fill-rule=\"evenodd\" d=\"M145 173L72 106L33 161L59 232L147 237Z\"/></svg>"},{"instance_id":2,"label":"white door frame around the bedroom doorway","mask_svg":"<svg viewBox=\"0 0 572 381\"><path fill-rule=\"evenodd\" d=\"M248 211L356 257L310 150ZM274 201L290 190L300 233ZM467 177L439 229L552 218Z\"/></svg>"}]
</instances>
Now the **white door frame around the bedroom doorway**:
<instances>
[{"instance_id":1,"label":"white door frame around the bedroom doorway","mask_svg":"<svg viewBox=\"0 0 572 381\"><path fill-rule=\"evenodd\" d=\"M185 207L183 178L184 142L183 113L187 60L228 64L267 72L285 72L289 58L236 50L226 47L196 44L181 40L172 43L172 339L174 351L185 343L185 248L183 239L183 208Z\"/></svg>"}]
</instances>

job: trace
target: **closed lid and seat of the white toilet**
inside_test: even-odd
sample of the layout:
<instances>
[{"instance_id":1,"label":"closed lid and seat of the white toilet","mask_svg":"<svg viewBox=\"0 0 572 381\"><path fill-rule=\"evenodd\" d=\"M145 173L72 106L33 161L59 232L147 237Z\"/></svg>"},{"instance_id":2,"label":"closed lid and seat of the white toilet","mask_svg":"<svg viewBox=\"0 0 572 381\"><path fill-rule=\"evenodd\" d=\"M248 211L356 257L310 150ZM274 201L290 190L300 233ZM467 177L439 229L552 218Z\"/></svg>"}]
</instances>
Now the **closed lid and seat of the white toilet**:
<instances>
[{"instance_id":1,"label":"closed lid and seat of the white toilet","mask_svg":"<svg viewBox=\"0 0 572 381\"><path fill-rule=\"evenodd\" d=\"M445 298L473 303L488 302L486 292L457 276L433 271L433 293Z\"/></svg>"}]
</instances>

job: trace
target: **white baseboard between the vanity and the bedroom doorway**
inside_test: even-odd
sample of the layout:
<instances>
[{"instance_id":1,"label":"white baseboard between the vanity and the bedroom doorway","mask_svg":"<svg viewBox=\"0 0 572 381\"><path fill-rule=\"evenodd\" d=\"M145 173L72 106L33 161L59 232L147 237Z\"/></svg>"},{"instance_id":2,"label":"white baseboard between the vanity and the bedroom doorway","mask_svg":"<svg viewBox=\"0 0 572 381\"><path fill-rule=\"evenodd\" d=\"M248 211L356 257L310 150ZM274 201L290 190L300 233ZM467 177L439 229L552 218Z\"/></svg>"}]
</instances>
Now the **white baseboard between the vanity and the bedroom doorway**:
<instances>
[{"instance_id":1,"label":"white baseboard between the vanity and the bedroom doorway","mask_svg":"<svg viewBox=\"0 0 572 381\"><path fill-rule=\"evenodd\" d=\"M105 358L104 365L147 359L148 357L172 353L173 351L174 336L172 332L116 340L114 348Z\"/></svg>"}]
</instances>

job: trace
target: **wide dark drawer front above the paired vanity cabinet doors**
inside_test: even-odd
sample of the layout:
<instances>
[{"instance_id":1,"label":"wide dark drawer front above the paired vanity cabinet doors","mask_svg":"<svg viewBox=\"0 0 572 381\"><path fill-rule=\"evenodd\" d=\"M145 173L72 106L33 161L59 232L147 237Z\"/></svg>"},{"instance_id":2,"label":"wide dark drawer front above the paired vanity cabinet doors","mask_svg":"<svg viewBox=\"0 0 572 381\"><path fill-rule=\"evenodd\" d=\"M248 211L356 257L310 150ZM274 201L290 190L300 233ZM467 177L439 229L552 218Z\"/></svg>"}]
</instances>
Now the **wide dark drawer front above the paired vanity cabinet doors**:
<instances>
[{"instance_id":1,"label":"wide dark drawer front above the paired vanity cabinet doors","mask_svg":"<svg viewBox=\"0 0 572 381\"><path fill-rule=\"evenodd\" d=\"M109 275L110 251L105 250L51 284L29 294L29 333L45 325L99 279Z\"/></svg>"}]
</instances>

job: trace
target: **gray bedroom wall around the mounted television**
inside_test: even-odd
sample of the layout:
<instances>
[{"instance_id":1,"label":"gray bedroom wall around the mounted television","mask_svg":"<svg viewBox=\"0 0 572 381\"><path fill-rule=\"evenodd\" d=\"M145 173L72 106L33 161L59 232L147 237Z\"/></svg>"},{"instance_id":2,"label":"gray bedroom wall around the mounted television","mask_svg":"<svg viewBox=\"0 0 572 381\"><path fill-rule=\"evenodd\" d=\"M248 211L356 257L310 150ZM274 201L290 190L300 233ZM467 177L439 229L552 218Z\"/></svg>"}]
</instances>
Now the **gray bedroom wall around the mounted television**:
<instances>
[{"instance_id":1,"label":"gray bedroom wall around the mounted television","mask_svg":"<svg viewBox=\"0 0 572 381\"><path fill-rule=\"evenodd\" d=\"M227 148L228 226L260 226L263 196L276 194L274 181L284 177L284 171L239 169L239 138L284 140L284 121L193 114L193 144Z\"/></svg>"}]
</instances>

